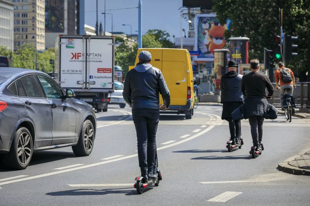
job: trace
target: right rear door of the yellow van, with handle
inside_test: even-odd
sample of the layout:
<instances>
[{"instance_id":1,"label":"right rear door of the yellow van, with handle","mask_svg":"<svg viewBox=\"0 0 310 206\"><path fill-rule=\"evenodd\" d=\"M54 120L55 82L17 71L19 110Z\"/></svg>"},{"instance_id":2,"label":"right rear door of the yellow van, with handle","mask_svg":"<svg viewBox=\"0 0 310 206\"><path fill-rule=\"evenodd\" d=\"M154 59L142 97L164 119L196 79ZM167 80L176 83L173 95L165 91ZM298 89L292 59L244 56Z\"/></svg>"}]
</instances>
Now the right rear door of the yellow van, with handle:
<instances>
[{"instance_id":1,"label":"right rear door of the yellow van, with handle","mask_svg":"<svg viewBox=\"0 0 310 206\"><path fill-rule=\"evenodd\" d=\"M187 81L190 79L186 64L184 50L162 50L162 74L170 90L170 105L184 106L187 103Z\"/></svg>"}]
</instances>

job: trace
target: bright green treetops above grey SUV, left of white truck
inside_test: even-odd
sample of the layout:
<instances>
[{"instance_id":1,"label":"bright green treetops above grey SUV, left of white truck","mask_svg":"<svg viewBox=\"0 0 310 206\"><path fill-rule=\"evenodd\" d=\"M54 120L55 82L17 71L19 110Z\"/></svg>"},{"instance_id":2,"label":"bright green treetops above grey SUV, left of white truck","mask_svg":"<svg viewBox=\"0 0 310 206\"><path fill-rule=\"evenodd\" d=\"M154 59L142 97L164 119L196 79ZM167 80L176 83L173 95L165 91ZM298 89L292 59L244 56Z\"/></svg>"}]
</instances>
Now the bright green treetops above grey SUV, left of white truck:
<instances>
[{"instance_id":1,"label":"bright green treetops above grey SUV, left of white truck","mask_svg":"<svg viewBox=\"0 0 310 206\"><path fill-rule=\"evenodd\" d=\"M37 66L40 71L48 73L53 71L53 65L50 64L50 59L55 59L55 49L50 48L43 52L38 52ZM11 51L7 47L0 46L0 56L11 56ZM30 44L22 45L21 49L17 49L12 53L14 67L35 69L36 68L36 49Z\"/></svg>"}]
</instances>

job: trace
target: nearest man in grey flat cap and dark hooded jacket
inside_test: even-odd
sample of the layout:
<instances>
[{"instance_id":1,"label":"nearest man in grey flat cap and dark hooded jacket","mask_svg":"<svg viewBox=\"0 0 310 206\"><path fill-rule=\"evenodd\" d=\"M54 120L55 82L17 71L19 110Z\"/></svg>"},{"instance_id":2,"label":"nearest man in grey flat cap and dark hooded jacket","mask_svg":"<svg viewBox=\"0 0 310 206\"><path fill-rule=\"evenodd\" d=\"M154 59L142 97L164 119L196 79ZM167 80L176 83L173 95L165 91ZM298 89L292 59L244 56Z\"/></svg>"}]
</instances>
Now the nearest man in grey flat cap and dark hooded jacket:
<instances>
[{"instance_id":1,"label":"nearest man in grey flat cap and dark hooded jacket","mask_svg":"<svg viewBox=\"0 0 310 206\"><path fill-rule=\"evenodd\" d=\"M123 97L132 109L141 176L148 182L148 179L157 178L152 169L159 110L169 108L170 92L162 72L150 64L151 53L141 51L138 57L139 63L126 75ZM159 105L159 93L162 95L163 105Z\"/></svg>"}]
</instances>

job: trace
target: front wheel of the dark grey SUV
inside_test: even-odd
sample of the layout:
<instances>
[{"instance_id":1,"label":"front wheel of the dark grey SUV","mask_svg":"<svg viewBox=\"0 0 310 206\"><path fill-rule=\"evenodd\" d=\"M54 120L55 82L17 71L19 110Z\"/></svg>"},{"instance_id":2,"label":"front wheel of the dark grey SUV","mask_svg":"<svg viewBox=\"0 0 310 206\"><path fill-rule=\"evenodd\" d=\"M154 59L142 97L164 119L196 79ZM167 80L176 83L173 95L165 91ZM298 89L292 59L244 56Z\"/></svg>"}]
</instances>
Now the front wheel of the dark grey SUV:
<instances>
[{"instance_id":1,"label":"front wheel of the dark grey SUV","mask_svg":"<svg viewBox=\"0 0 310 206\"><path fill-rule=\"evenodd\" d=\"M93 123L86 119L83 123L80 136L78 138L78 144L72 146L72 151L76 156L88 156L94 147L95 132Z\"/></svg>"}]
</instances>

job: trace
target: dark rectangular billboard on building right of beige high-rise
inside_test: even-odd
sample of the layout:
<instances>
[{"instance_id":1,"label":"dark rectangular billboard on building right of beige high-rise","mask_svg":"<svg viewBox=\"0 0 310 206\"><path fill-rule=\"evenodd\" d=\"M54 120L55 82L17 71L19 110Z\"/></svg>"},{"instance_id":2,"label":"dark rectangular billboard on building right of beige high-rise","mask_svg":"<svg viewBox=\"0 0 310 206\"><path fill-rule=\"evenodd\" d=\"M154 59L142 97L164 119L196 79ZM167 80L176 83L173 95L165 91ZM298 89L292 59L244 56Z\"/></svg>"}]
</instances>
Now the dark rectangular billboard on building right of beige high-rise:
<instances>
[{"instance_id":1,"label":"dark rectangular billboard on building right of beige high-rise","mask_svg":"<svg viewBox=\"0 0 310 206\"><path fill-rule=\"evenodd\" d=\"M64 33L64 0L45 0L45 32Z\"/></svg>"}]
</instances>

